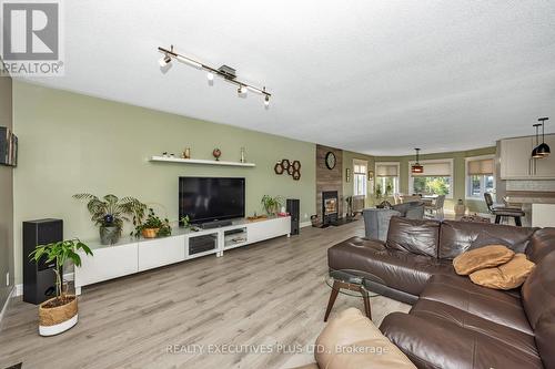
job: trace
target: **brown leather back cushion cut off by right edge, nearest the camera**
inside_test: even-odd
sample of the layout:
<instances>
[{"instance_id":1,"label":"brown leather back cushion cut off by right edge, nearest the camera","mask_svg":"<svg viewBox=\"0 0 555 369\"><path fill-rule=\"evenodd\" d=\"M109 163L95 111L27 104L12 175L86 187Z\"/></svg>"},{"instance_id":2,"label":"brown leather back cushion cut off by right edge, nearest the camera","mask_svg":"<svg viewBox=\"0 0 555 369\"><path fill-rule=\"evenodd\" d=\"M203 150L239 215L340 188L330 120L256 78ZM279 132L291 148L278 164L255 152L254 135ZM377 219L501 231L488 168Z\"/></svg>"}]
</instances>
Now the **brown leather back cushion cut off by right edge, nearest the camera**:
<instances>
[{"instance_id":1,"label":"brown leather back cushion cut off by right edge, nearest the camera","mask_svg":"<svg viewBox=\"0 0 555 369\"><path fill-rule=\"evenodd\" d=\"M543 315L555 310L555 252L536 265L522 286L522 300L534 329Z\"/></svg>"}]
</instances>

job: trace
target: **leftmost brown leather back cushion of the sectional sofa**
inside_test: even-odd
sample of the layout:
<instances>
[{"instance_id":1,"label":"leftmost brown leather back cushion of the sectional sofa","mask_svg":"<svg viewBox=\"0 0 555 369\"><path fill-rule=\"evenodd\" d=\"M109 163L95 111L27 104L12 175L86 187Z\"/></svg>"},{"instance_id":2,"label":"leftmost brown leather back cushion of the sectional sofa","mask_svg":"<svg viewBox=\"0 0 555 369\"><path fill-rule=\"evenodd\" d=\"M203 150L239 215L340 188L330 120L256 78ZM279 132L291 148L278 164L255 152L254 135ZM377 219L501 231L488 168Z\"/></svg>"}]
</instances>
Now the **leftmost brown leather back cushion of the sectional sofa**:
<instances>
[{"instance_id":1,"label":"leftmost brown leather back cushion of the sectional sofa","mask_svg":"<svg viewBox=\"0 0 555 369\"><path fill-rule=\"evenodd\" d=\"M387 248L437 257L440 222L392 217Z\"/></svg>"}]
</instances>

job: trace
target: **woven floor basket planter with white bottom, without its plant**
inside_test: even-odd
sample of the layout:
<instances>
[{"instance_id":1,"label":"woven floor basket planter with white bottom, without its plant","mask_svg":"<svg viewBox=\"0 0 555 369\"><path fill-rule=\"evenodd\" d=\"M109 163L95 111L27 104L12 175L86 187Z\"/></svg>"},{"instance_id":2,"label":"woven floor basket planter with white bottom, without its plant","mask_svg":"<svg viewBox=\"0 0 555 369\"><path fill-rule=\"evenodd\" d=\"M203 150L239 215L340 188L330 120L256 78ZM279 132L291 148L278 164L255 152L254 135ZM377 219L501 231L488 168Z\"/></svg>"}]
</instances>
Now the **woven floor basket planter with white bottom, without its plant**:
<instances>
[{"instance_id":1,"label":"woven floor basket planter with white bottom, without its plant","mask_svg":"<svg viewBox=\"0 0 555 369\"><path fill-rule=\"evenodd\" d=\"M39 335L59 335L77 324L79 319L77 296L65 295L65 298L71 299L65 305L47 307L56 300L51 298L39 306Z\"/></svg>"}]
</instances>

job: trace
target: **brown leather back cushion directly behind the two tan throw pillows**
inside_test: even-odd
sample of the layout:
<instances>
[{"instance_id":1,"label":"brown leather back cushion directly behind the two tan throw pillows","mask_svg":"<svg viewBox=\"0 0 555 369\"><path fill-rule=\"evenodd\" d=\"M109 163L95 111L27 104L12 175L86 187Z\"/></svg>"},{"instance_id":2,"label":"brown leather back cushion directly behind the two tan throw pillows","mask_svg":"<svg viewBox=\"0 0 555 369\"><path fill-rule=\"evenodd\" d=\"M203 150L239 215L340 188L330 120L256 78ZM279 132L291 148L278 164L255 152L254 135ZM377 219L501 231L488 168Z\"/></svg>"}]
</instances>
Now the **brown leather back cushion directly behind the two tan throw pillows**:
<instances>
[{"instance_id":1,"label":"brown leather back cushion directly behind the two tan throw pillows","mask_svg":"<svg viewBox=\"0 0 555 369\"><path fill-rule=\"evenodd\" d=\"M471 248L500 243L508 246L515 253L524 253L536 229L497 224L445 221L441 227L438 257L453 259Z\"/></svg>"}]
</instances>

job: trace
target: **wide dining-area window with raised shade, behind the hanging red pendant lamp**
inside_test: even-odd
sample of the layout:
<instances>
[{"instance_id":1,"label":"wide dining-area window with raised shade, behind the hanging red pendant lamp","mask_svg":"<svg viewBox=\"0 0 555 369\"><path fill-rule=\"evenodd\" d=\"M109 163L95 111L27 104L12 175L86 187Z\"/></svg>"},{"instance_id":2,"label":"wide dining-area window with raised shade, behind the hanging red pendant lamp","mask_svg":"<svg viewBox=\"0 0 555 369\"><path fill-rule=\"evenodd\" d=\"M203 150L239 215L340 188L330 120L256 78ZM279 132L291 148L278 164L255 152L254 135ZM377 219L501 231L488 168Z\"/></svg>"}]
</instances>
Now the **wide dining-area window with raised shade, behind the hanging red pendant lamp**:
<instances>
[{"instance_id":1,"label":"wide dining-area window with raised shade, behind the hanging red pendant lamp","mask_svg":"<svg viewBox=\"0 0 555 369\"><path fill-rule=\"evenodd\" d=\"M408 188L412 194L445 195L453 198L453 160L421 161L423 173L412 173L408 163Z\"/></svg>"}]
</instances>

